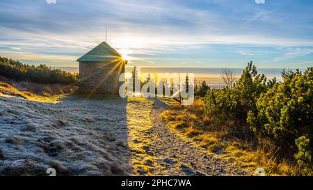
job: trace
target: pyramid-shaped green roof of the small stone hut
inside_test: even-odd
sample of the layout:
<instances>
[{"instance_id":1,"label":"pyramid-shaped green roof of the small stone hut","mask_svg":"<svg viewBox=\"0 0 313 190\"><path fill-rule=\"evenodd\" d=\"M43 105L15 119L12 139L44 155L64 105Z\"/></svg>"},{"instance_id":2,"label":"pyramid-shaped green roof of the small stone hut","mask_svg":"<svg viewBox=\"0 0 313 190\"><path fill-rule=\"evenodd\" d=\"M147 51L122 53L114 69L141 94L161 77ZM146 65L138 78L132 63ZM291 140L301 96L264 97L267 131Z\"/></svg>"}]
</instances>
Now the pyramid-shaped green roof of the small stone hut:
<instances>
[{"instance_id":1,"label":"pyramid-shaped green roof of the small stone hut","mask_svg":"<svg viewBox=\"0 0 313 190\"><path fill-rule=\"evenodd\" d=\"M91 49L87 54L83 55L77 61L79 62L103 62L103 61L117 61L122 56L116 52L106 42L102 42L94 49Z\"/></svg>"}]
</instances>

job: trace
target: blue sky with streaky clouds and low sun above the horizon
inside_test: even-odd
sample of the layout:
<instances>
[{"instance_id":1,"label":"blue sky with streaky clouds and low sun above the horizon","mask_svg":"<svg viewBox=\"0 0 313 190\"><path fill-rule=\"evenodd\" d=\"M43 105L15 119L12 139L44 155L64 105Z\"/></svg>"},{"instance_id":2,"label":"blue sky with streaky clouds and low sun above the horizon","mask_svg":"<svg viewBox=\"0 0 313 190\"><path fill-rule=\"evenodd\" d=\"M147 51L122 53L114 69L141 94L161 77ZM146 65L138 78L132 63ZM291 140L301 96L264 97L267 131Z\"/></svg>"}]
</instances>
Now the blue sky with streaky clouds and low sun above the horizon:
<instances>
[{"instance_id":1,"label":"blue sky with streaky clouds and low sun above the horizon","mask_svg":"<svg viewBox=\"0 0 313 190\"><path fill-rule=\"evenodd\" d=\"M1 0L0 8L0 56L33 65L78 66L107 27L129 66L313 66L313 1Z\"/></svg>"}]
</instances>

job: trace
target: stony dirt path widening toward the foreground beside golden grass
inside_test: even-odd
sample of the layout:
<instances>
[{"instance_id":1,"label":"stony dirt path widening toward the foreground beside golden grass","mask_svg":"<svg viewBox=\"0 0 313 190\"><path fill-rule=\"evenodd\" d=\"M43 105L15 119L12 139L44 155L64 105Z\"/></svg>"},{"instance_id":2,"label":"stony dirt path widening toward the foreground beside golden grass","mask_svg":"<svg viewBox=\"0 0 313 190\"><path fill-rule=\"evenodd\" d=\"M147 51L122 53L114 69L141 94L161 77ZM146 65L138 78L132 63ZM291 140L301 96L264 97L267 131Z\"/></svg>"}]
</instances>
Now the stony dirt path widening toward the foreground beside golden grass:
<instances>
[{"instance_id":1,"label":"stony dirt path widening toward the foreground beside golden grass","mask_svg":"<svg viewBox=\"0 0 313 190\"><path fill-rule=\"evenodd\" d=\"M160 114L167 106L154 100L151 119L154 127L149 133L153 135L154 156L157 157L155 175L248 175L240 168L230 168L222 159L207 155L200 149L193 148L175 134L170 132Z\"/></svg>"}]
</instances>

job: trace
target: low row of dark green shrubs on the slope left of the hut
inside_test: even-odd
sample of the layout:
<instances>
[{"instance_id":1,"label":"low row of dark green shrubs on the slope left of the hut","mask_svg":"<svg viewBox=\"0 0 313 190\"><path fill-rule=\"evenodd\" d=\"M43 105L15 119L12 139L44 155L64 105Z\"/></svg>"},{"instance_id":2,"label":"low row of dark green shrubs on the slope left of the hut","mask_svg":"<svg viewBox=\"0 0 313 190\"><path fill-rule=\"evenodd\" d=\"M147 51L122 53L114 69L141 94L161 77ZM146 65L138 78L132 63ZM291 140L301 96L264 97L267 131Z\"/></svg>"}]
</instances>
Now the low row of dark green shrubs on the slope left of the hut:
<instances>
[{"instance_id":1,"label":"low row of dark green shrubs on the slope left of the hut","mask_svg":"<svg viewBox=\"0 0 313 190\"><path fill-rule=\"evenodd\" d=\"M32 81L39 84L75 84L77 74L59 69L51 69L47 65L25 65L13 59L0 56L0 75L16 81Z\"/></svg>"}]
</instances>

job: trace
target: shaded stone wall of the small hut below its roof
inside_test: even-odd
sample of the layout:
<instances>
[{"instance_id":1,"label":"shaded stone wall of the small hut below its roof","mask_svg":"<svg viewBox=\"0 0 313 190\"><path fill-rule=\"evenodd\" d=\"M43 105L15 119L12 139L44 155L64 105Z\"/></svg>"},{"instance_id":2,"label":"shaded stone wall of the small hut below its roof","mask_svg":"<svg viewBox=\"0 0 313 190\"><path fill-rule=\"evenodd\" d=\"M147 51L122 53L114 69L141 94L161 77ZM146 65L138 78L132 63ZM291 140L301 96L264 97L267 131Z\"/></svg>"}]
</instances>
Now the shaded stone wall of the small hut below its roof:
<instances>
[{"instance_id":1,"label":"shaded stone wall of the small hut below its roof","mask_svg":"<svg viewBox=\"0 0 313 190\"><path fill-rule=\"evenodd\" d=\"M125 73L125 63L80 62L79 93L118 95L123 82L120 74Z\"/></svg>"}]
</instances>

